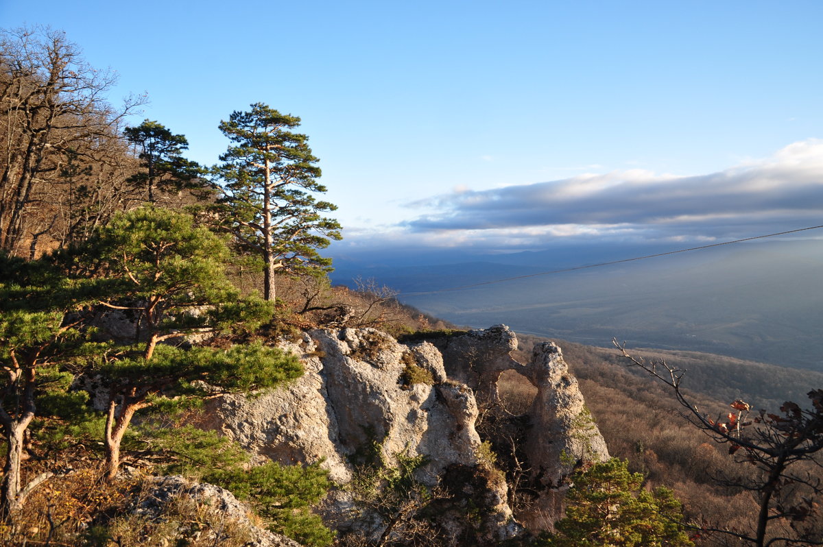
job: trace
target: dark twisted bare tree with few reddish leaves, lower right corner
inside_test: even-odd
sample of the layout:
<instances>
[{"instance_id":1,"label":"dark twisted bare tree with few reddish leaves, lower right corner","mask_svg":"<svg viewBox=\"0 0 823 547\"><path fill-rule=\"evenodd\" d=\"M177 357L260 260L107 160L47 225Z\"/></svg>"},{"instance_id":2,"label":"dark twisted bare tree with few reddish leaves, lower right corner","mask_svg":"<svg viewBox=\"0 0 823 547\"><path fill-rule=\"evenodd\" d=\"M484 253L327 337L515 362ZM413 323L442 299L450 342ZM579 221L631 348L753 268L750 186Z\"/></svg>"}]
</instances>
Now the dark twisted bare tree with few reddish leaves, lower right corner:
<instances>
[{"instance_id":1,"label":"dark twisted bare tree with few reddish leaves, lower right corner","mask_svg":"<svg viewBox=\"0 0 823 547\"><path fill-rule=\"evenodd\" d=\"M700 412L681 389L686 373L665 360L645 361L612 341L629 366L643 369L672 389L681 412L690 424L716 443L728 444L737 462L753 466L753 473L718 477L718 482L750 491L757 498L756 530L737 531L732 526L705 526L704 530L730 535L737 540L763 545L823 545L819 528L820 496L823 494L823 389L808 393L811 407L785 402L780 414L752 412L744 401L734 401L732 412L715 420ZM751 420L750 420L751 418Z\"/></svg>"}]
</instances>

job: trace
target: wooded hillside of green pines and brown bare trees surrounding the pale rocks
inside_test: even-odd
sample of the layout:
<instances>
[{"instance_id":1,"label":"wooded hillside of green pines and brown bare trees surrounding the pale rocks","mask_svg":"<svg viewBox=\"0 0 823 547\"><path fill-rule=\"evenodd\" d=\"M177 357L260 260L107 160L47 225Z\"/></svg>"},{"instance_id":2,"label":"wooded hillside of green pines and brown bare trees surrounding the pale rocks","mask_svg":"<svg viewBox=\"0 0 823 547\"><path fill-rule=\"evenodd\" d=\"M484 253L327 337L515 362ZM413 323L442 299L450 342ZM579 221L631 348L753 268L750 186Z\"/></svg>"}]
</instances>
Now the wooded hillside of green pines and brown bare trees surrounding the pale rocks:
<instances>
[{"instance_id":1,"label":"wooded hillside of green pines and brown bare trees surrounding the pale rocks","mask_svg":"<svg viewBox=\"0 0 823 547\"><path fill-rule=\"evenodd\" d=\"M455 326L374 280L331 285L322 251L341 226L300 118L262 102L226 113L226 152L198 165L184 135L133 122L145 98L111 104L113 84L62 32L0 35L0 545L259 545L194 499L137 510L166 475L230 491L300 545L438 545L337 535L315 511L335 488L319 462L260 464L197 424L209 398L299 378L277 344L303 331ZM538 340L519 339L525 359ZM823 545L821 378L558 343L613 459L575 471L554 530L511 545ZM523 426L533 387L506 373L500 396L484 423ZM479 428L516 504L518 447L501 441L516 432L500 431ZM414 489L409 521L425 524L431 493L379 477Z\"/></svg>"}]
</instances>

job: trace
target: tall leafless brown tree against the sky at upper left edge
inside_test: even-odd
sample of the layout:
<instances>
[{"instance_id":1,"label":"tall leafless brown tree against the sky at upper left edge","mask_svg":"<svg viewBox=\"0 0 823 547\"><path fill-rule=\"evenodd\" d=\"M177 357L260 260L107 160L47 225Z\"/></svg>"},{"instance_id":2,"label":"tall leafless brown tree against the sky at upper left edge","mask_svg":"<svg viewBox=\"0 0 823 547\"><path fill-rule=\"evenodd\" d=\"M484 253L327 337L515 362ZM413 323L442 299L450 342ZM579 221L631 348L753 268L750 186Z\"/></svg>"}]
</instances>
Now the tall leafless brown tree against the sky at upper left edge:
<instances>
[{"instance_id":1,"label":"tall leafless brown tree against the sky at upper left edge","mask_svg":"<svg viewBox=\"0 0 823 547\"><path fill-rule=\"evenodd\" d=\"M126 157L111 155L111 142L122 140L120 123L142 100L130 98L114 110L105 100L114 81L112 72L89 66L62 32L0 33L0 249L22 253L26 239L36 248L57 225L72 234L81 194L88 194L83 202L102 197L72 183L81 174L86 184L95 179L78 164L95 165L98 180L109 183ZM53 202L56 196L67 198Z\"/></svg>"}]
</instances>

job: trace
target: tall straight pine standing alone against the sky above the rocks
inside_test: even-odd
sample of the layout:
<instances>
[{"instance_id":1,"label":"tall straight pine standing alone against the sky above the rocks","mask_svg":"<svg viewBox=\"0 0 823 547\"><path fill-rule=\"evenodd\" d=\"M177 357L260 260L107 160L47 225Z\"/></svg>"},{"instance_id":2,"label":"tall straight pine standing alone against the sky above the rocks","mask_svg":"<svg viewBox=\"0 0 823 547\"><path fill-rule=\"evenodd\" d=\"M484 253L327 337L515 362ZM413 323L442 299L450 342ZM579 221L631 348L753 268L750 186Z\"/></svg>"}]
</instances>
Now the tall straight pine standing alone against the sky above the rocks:
<instances>
[{"instance_id":1,"label":"tall straight pine standing alone against the sky above the rocks","mask_svg":"<svg viewBox=\"0 0 823 547\"><path fill-rule=\"evenodd\" d=\"M290 130L300 118L281 114L263 103L235 111L220 130L234 146L221 155L213 171L222 181L223 228L239 245L263 261L263 298L275 299L278 272L327 271L320 257L330 239L341 239L337 220L322 216L337 206L316 201L310 192L325 192L317 182L318 159L308 137Z\"/></svg>"}]
</instances>

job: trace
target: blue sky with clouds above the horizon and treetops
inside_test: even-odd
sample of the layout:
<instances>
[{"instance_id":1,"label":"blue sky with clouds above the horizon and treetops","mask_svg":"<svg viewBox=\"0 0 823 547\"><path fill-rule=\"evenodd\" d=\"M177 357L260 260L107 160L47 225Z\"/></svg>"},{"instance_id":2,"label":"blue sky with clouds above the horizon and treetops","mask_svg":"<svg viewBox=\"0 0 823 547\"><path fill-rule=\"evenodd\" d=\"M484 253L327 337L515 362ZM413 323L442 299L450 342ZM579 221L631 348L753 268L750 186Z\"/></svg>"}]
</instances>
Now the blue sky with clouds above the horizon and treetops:
<instances>
[{"instance_id":1,"label":"blue sky with clouds above the horizon and treetops","mask_svg":"<svg viewBox=\"0 0 823 547\"><path fill-rule=\"evenodd\" d=\"M216 162L217 124L303 119L346 239L500 252L821 224L823 2L55 2L110 98ZM333 254L332 253L332 254Z\"/></svg>"}]
</instances>

